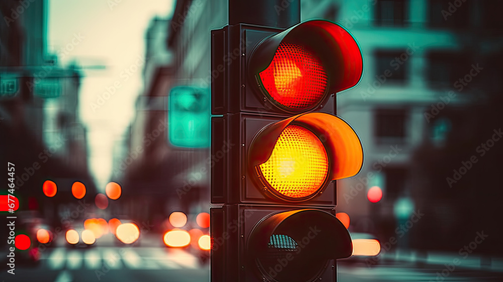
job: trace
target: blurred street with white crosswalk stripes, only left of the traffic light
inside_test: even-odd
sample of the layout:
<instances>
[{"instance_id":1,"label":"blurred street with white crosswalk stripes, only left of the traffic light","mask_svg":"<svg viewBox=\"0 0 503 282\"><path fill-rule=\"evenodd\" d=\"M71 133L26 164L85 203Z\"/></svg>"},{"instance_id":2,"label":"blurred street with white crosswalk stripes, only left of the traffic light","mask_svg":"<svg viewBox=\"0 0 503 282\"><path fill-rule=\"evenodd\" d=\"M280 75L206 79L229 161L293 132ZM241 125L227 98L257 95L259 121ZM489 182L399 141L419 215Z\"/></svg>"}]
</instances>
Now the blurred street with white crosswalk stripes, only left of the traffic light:
<instances>
[{"instance_id":1,"label":"blurred street with white crosswalk stripes, only left of the traffic light","mask_svg":"<svg viewBox=\"0 0 503 282\"><path fill-rule=\"evenodd\" d=\"M41 253L37 264L16 267L16 281L208 280L208 254L167 249L152 236L143 238L142 246L134 247L117 246L111 237L102 237L100 246L90 248L69 248L57 242ZM10 278L5 271L0 277Z\"/></svg>"}]
</instances>

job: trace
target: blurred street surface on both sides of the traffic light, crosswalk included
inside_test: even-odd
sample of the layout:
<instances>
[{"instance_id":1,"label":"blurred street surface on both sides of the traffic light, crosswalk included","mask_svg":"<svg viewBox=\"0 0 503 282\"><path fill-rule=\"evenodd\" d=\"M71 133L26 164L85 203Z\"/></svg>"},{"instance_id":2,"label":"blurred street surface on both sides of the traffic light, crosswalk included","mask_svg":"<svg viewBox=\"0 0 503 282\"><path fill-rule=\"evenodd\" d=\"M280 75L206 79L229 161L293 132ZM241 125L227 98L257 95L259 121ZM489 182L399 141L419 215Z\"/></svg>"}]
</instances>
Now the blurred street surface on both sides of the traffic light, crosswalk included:
<instances>
[{"instance_id":1,"label":"blurred street surface on both sides of the traffic light, crosswalk included","mask_svg":"<svg viewBox=\"0 0 503 282\"><path fill-rule=\"evenodd\" d=\"M122 255L121 255L122 254ZM365 262L341 261L338 266L338 281L501 281L503 261L499 267L473 269L458 268L449 271L446 277L439 273L445 269L441 262L421 264L406 258L399 261L385 259L368 267ZM445 263L449 263L446 258ZM434 264L435 263L435 264ZM478 268L478 267L477 267ZM114 247L100 246L93 249L68 249L56 247L42 255L40 264L19 268L17 281L153 281L184 282L209 281L209 263L201 257L183 250L169 251L160 247ZM2 273L1 277L6 277Z\"/></svg>"}]
</instances>

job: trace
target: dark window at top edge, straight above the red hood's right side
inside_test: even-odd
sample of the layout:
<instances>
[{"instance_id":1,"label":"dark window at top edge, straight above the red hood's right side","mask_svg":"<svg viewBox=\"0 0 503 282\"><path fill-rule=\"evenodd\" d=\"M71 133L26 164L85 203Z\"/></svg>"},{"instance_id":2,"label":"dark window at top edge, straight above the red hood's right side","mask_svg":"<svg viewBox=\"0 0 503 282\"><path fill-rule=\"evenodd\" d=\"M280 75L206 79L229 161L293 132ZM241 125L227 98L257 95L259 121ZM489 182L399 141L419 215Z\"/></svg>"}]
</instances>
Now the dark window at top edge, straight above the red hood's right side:
<instances>
[{"instance_id":1,"label":"dark window at top edge, straight above the red hood's right side","mask_svg":"<svg viewBox=\"0 0 503 282\"><path fill-rule=\"evenodd\" d=\"M375 22L378 26L402 27L408 21L407 0L377 0Z\"/></svg>"}]
</instances>

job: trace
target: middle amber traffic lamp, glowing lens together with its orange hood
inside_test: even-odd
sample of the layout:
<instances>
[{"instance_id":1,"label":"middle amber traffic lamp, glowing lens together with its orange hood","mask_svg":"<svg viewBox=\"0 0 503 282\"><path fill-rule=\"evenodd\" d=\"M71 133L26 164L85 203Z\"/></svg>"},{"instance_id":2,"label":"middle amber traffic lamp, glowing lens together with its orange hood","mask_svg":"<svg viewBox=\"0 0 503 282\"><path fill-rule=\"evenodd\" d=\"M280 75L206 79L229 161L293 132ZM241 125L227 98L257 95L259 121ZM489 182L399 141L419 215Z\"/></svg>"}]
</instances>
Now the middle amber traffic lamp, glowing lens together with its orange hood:
<instances>
[{"instance_id":1,"label":"middle amber traffic lamp, glowing lens together with its orange hood","mask_svg":"<svg viewBox=\"0 0 503 282\"><path fill-rule=\"evenodd\" d=\"M260 130L251 142L248 162L264 191L282 200L304 201L318 195L329 181L358 174L363 147L343 119L305 113Z\"/></svg>"}]
</instances>

